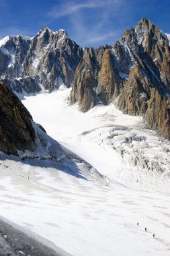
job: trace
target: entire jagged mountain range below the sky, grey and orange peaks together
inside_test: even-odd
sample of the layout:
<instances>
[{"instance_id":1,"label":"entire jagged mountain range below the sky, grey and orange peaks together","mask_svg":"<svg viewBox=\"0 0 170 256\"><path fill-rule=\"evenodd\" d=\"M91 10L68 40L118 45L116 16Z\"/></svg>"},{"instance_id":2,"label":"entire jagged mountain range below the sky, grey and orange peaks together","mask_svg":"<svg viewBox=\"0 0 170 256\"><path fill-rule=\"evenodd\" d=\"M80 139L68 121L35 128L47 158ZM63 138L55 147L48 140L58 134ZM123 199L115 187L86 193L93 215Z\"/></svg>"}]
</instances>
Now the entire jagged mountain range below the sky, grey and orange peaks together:
<instances>
[{"instance_id":1,"label":"entire jagged mountain range below the sky, grey and orange peaks together","mask_svg":"<svg viewBox=\"0 0 170 256\"><path fill-rule=\"evenodd\" d=\"M0 41L0 77L17 94L73 86L70 104L83 111L115 104L140 115L170 138L169 34L143 18L114 46L82 49L65 32L44 27L36 36Z\"/></svg>"}]
</instances>

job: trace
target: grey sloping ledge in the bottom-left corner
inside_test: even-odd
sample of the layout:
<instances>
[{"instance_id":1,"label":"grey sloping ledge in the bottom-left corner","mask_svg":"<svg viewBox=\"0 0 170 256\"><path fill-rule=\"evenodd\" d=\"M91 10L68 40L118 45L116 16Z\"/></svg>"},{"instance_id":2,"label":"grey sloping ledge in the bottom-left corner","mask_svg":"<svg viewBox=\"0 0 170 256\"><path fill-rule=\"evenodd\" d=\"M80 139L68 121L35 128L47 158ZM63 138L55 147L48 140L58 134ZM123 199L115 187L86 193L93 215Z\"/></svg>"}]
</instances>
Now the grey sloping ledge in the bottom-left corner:
<instances>
[{"instance_id":1,"label":"grey sloping ledge in the bottom-left corner","mask_svg":"<svg viewBox=\"0 0 170 256\"><path fill-rule=\"evenodd\" d=\"M71 256L53 243L0 217L0 255Z\"/></svg>"}]
</instances>

